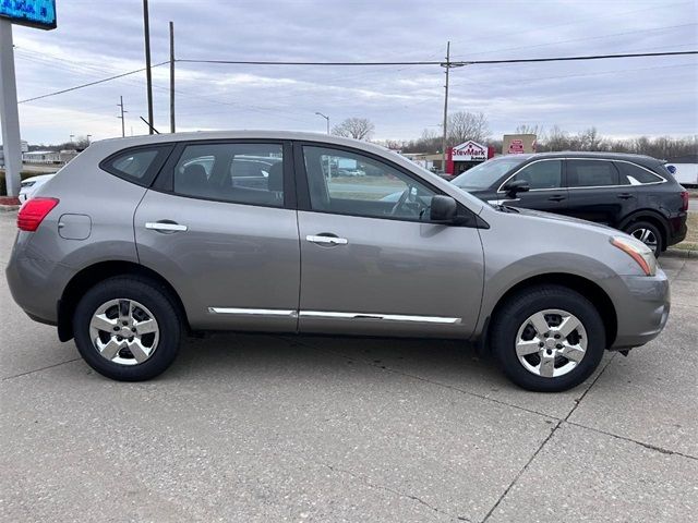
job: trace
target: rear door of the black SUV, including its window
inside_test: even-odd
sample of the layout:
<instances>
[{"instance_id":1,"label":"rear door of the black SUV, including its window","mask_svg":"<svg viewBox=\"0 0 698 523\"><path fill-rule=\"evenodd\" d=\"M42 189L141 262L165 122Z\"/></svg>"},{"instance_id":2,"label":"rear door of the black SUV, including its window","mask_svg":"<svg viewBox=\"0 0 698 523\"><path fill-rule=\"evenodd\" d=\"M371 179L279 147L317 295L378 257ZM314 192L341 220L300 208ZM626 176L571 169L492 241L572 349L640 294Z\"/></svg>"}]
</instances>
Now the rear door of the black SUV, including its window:
<instances>
[{"instance_id":1,"label":"rear door of the black SUV, including its window","mask_svg":"<svg viewBox=\"0 0 698 523\"><path fill-rule=\"evenodd\" d=\"M611 160L566 160L570 216L616 227L637 207L637 193Z\"/></svg>"}]
</instances>

